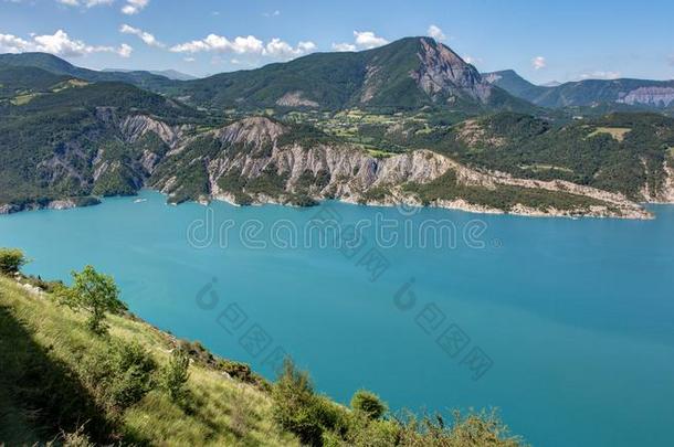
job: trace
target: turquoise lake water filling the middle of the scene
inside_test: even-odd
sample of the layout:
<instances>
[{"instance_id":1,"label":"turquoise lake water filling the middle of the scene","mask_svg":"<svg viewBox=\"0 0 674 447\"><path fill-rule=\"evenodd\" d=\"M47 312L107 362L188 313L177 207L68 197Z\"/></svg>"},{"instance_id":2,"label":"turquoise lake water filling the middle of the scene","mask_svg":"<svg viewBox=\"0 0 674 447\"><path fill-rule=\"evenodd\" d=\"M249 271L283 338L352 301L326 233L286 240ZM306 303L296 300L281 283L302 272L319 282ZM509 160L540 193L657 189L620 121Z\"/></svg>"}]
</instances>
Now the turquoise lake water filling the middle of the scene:
<instances>
[{"instance_id":1,"label":"turquoise lake water filling the middle of the scene","mask_svg":"<svg viewBox=\"0 0 674 447\"><path fill-rule=\"evenodd\" d=\"M207 207L141 196L1 216L0 246L22 247L33 259L25 270L46 278L93 264L115 276L144 319L267 376L270 355L284 350L343 402L367 387L392 408L497 406L536 446L670 443L674 206L633 222L213 203L214 226L234 226L210 244L203 235L212 232L194 233L206 245L196 248L188 228L207 220ZM274 222L302 228L326 210L345 223L451 220L459 241L453 248L380 247L372 253L388 268L376 280L372 257L364 256L377 246L371 230L351 258L316 244L270 245ZM240 241L238 227L251 219L263 228L253 244L266 242L264 249ZM470 223L476 219L486 230L465 241L466 225L483 225ZM436 342L457 333L459 344ZM466 355L475 360L477 348L484 362L473 366L483 368L471 369Z\"/></svg>"}]
</instances>

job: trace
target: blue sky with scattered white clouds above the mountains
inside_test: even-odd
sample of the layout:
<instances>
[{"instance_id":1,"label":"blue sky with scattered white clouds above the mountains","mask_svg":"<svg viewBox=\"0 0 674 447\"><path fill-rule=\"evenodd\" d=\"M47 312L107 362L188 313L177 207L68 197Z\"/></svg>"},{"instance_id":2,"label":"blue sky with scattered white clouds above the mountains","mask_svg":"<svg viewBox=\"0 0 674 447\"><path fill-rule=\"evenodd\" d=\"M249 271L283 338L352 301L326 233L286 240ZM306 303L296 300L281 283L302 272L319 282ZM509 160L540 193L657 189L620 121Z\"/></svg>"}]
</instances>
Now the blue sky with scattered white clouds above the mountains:
<instances>
[{"instance_id":1,"label":"blue sky with scattered white clouds above the mountains","mask_svg":"<svg viewBox=\"0 0 674 447\"><path fill-rule=\"evenodd\" d=\"M0 0L0 52L204 75L433 34L483 72L536 83L671 79L673 22L671 0Z\"/></svg>"}]
</instances>

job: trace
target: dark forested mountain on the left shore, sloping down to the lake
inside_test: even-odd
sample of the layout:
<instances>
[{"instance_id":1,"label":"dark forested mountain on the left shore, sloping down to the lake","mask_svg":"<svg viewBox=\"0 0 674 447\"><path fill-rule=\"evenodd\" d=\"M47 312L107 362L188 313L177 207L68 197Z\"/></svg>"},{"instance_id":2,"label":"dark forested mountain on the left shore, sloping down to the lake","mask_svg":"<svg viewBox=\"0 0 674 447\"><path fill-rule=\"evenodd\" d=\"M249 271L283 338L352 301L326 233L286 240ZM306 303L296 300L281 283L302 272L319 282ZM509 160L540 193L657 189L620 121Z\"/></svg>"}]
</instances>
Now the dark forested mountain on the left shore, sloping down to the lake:
<instances>
[{"instance_id":1,"label":"dark forested mountain on the left shore, sloping down to the lake","mask_svg":"<svg viewBox=\"0 0 674 447\"><path fill-rule=\"evenodd\" d=\"M6 211L135 193L168 150L169 124L204 121L194 109L124 83L87 83L34 67L0 68L0 79L11 87L0 88L8 95L0 96ZM154 131L146 136L147 129Z\"/></svg>"}]
</instances>

